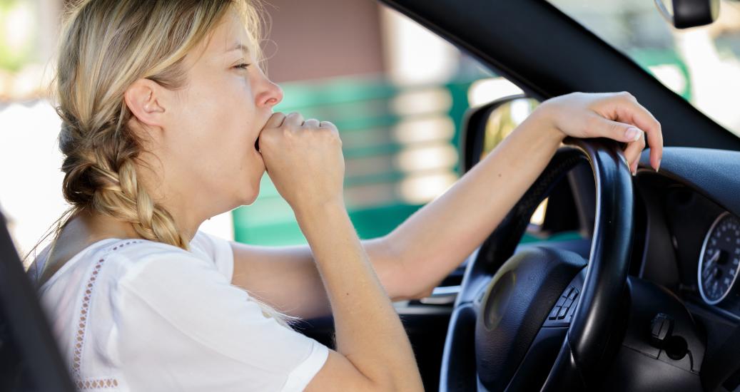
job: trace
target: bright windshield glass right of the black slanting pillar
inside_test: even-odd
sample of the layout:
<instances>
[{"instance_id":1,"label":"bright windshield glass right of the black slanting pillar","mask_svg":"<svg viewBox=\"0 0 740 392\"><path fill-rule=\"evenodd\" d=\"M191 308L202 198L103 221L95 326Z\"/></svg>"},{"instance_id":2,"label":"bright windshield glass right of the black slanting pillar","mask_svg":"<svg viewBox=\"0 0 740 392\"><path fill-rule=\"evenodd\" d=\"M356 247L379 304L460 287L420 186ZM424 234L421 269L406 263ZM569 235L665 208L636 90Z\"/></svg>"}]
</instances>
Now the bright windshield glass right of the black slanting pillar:
<instances>
[{"instance_id":1,"label":"bright windshield glass right of the black slanting pillar","mask_svg":"<svg viewBox=\"0 0 740 392\"><path fill-rule=\"evenodd\" d=\"M739 3L722 1L713 24L677 30L652 0L549 1L740 135Z\"/></svg>"}]
</instances>

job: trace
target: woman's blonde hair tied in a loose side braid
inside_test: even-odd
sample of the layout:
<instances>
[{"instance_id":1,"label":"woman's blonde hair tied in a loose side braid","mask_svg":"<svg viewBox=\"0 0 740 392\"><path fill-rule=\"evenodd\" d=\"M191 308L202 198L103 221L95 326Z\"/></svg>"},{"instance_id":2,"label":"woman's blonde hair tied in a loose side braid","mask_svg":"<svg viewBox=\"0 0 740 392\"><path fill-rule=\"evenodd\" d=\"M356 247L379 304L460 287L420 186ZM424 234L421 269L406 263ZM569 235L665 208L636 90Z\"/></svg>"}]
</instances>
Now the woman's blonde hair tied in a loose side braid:
<instances>
[{"instance_id":1,"label":"woman's blonde hair tied in a loose side braid","mask_svg":"<svg viewBox=\"0 0 740 392\"><path fill-rule=\"evenodd\" d=\"M250 0L82 0L65 10L52 95L70 209L55 223L52 249L70 218L87 210L131 223L144 239L189 250L172 215L138 181L134 163L143 165L143 143L129 129L124 92L140 78L185 87L185 56L207 43L229 10L242 19L259 58L258 7ZM260 306L278 321L290 318Z\"/></svg>"}]
</instances>

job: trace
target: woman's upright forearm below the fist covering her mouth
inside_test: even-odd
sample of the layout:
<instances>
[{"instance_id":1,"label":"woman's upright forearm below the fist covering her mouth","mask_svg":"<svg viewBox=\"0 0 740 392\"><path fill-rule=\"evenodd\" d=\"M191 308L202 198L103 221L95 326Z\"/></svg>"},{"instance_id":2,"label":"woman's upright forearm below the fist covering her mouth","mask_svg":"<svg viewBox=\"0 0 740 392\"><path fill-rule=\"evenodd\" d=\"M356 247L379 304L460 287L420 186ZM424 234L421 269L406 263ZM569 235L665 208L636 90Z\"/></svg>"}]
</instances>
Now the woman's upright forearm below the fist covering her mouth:
<instances>
[{"instance_id":1,"label":"woman's upright forearm below the fist covering her mouth","mask_svg":"<svg viewBox=\"0 0 740 392\"><path fill-rule=\"evenodd\" d=\"M337 351L370 379L392 379L398 390L420 390L406 331L346 210L331 205L296 217L332 305Z\"/></svg>"}]
</instances>

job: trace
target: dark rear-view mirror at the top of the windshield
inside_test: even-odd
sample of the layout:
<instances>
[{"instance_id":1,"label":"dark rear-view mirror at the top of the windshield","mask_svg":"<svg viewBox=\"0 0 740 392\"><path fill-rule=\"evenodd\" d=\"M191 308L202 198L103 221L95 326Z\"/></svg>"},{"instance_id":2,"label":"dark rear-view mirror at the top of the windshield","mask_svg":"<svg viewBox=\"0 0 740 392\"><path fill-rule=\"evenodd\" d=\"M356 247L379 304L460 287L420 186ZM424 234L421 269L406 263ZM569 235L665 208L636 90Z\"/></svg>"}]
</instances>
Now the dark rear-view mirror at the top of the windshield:
<instances>
[{"instance_id":1,"label":"dark rear-view mirror at the top of the windshield","mask_svg":"<svg viewBox=\"0 0 740 392\"><path fill-rule=\"evenodd\" d=\"M655 0L655 5L677 29L704 26L719 16L719 0Z\"/></svg>"}]
</instances>

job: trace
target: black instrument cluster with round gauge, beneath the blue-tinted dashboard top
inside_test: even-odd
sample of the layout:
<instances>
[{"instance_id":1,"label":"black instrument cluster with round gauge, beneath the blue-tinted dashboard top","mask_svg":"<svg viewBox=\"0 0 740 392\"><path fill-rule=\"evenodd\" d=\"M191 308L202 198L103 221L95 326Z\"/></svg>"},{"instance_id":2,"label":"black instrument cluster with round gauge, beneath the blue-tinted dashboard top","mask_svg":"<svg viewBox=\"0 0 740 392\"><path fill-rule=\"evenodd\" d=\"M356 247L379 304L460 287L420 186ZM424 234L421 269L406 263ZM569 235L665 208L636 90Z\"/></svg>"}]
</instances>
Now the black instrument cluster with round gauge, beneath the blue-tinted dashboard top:
<instances>
[{"instance_id":1,"label":"black instrument cluster with round gauge, beneath the blue-tinted dashboard top","mask_svg":"<svg viewBox=\"0 0 740 392\"><path fill-rule=\"evenodd\" d=\"M641 229L650 257L642 260L639 277L740 320L738 217L673 180L650 176L640 182L639 195L647 199L643 206L653 211L644 211L648 219Z\"/></svg>"}]
</instances>

